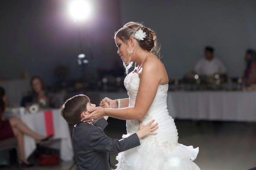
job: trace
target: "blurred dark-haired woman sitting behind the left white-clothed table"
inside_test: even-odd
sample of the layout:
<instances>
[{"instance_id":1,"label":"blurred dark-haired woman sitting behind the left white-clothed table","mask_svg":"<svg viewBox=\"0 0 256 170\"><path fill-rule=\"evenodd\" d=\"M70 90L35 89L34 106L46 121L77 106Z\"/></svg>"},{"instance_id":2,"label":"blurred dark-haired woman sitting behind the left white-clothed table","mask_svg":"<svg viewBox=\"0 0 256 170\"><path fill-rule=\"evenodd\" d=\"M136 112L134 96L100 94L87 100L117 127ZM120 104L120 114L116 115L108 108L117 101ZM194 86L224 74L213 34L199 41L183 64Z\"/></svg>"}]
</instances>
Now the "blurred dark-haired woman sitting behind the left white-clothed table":
<instances>
[{"instance_id":1,"label":"blurred dark-haired woman sitting behind the left white-clothed table","mask_svg":"<svg viewBox=\"0 0 256 170\"><path fill-rule=\"evenodd\" d=\"M30 80L32 94L24 96L21 101L22 107L29 107L33 104L38 104L40 108L57 108L58 105L53 102L53 96L44 88L44 82L38 76L32 77Z\"/></svg>"}]
</instances>

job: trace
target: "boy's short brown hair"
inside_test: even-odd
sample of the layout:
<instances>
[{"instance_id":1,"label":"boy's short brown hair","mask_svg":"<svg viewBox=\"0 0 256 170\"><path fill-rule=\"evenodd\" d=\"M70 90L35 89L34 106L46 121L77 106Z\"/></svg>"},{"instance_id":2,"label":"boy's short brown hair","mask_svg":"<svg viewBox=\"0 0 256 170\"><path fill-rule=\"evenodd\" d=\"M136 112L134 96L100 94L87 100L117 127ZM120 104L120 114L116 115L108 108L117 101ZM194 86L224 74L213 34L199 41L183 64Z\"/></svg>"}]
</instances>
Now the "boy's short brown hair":
<instances>
[{"instance_id":1,"label":"boy's short brown hair","mask_svg":"<svg viewBox=\"0 0 256 170\"><path fill-rule=\"evenodd\" d=\"M89 97L83 94L73 96L61 106L61 115L68 123L77 124L81 121L81 113L87 111L88 102Z\"/></svg>"}]
</instances>

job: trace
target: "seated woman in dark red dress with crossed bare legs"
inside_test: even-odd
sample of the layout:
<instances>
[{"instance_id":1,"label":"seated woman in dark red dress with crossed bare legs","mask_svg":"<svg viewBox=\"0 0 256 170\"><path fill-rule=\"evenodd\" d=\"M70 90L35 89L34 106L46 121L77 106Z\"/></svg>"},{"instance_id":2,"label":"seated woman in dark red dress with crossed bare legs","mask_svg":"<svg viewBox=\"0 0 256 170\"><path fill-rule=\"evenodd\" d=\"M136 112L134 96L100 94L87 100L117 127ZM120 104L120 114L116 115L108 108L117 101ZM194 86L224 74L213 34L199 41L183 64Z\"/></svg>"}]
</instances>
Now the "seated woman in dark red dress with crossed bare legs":
<instances>
[{"instance_id":1,"label":"seated woman in dark red dress with crossed bare legs","mask_svg":"<svg viewBox=\"0 0 256 170\"><path fill-rule=\"evenodd\" d=\"M9 119L4 120L2 113L4 112L5 108L5 90L2 87L0 87L0 141L15 137L17 139L18 144L20 163L22 167L30 167L33 164L30 164L24 156L23 135L26 134L31 136L38 143L48 141L51 138L51 136L45 137L33 132L17 117L11 117Z\"/></svg>"}]
</instances>

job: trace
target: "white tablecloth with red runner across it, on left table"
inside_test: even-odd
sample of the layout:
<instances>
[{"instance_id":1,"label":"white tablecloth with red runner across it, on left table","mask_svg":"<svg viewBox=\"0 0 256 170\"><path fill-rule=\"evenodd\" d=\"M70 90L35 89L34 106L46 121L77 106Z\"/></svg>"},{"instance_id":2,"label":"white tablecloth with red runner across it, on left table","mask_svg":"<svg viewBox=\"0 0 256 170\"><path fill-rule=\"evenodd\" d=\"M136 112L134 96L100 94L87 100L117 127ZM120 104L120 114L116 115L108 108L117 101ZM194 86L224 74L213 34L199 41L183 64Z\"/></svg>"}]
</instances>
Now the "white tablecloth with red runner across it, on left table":
<instances>
[{"instance_id":1,"label":"white tablecloth with red runner across it, on left table","mask_svg":"<svg viewBox=\"0 0 256 170\"><path fill-rule=\"evenodd\" d=\"M28 127L34 130L36 133L45 136L47 135L44 120L44 111L38 113L25 113L24 109L20 109L20 118ZM60 157L64 161L72 160L74 152L70 136L70 130L67 122L61 116L58 109L52 110L52 120L54 130L54 137L52 138L52 141L54 141L54 139L60 139ZM35 140L32 139L30 136L25 135L24 145L25 156L26 158L28 158L36 148Z\"/></svg>"}]
</instances>

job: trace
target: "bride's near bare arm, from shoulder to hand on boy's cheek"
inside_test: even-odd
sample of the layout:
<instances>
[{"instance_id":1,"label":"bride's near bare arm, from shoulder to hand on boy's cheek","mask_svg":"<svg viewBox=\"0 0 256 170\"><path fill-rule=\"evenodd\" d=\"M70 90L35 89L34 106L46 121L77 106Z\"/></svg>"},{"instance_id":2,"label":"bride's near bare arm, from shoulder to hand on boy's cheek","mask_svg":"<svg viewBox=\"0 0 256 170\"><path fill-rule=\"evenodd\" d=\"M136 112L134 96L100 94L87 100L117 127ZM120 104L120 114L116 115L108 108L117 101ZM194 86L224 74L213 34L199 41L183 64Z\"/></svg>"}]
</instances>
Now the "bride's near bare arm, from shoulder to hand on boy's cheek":
<instances>
[{"instance_id":1,"label":"bride's near bare arm, from shoulder to hand on boy's cheek","mask_svg":"<svg viewBox=\"0 0 256 170\"><path fill-rule=\"evenodd\" d=\"M158 66L151 61L144 63L134 107L120 109L95 108L91 110L93 112L82 121L90 122L90 119L95 120L102 116L111 116L125 120L142 119L148 112L157 93L157 87L160 82L158 69Z\"/></svg>"}]
</instances>

